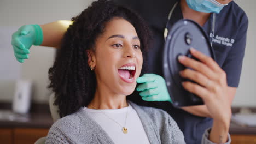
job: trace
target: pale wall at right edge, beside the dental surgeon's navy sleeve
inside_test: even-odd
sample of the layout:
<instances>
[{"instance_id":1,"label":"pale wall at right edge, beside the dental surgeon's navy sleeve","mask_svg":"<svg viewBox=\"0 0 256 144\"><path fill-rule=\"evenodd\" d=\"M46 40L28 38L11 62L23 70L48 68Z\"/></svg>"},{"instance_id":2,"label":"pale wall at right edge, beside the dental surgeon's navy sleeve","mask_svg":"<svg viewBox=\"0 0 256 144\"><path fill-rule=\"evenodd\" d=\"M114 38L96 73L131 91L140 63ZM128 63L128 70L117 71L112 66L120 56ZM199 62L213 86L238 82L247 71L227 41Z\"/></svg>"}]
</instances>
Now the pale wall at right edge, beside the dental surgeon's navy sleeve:
<instances>
[{"instance_id":1,"label":"pale wall at right edge, beside the dental surgeon's navy sleeve","mask_svg":"<svg viewBox=\"0 0 256 144\"><path fill-rule=\"evenodd\" d=\"M235 1L245 10L249 27L247 32L247 44L245 58L243 59L240 86L237 89L232 106L254 106L256 107L256 1L237 0Z\"/></svg>"}]
</instances>

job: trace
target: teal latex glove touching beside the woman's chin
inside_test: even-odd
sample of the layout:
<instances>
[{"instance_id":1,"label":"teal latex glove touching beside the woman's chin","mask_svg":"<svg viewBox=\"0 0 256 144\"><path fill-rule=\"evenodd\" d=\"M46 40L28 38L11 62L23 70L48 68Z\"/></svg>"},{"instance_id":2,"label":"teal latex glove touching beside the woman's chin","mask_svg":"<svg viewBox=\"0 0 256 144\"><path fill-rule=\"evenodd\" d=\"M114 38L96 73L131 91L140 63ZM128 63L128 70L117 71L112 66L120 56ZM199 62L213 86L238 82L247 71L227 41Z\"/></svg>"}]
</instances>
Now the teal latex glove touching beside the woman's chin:
<instances>
[{"instance_id":1,"label":"teal latex glove touching beside the woman's chin","mask_svg":"<svg viewBox=\"0 0 256 144\"><path fill-rule=\"evenodd\" d=\"M168 93L165 79L156 74L144 74L141 77L138 77L137 83L140 84L136 90L141 91L142 99L145 101L170 101L170 95Z\"/></svg>"}]
</instances>

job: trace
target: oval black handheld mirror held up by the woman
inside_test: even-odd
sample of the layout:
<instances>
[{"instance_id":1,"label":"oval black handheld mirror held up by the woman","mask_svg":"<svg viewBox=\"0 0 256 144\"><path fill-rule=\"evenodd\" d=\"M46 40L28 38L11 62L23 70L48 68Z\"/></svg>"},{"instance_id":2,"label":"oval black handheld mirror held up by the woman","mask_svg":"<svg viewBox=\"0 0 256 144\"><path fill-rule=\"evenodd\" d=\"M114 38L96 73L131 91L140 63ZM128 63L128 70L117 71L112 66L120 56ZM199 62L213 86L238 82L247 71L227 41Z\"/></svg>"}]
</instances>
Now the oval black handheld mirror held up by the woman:
<instances>
[{"instance_id":1,"label":"oval black handheld mirror held up by the woman","mask_svg":"<svg viewBox=\"0 0 256 144\"><path fill-rule=\"evenodd\" d=\"M179 20L174 23L166 37L162 65L168 92L173 105L177 107L203 104L200 97L182 87L181 83L185 79L179 76L179 71L185 67L178 62L177 58L179 55L194 58L189 52L190 47L215 60L210 41L201 26L192 20Z\"/></svg>"}]
</instances>

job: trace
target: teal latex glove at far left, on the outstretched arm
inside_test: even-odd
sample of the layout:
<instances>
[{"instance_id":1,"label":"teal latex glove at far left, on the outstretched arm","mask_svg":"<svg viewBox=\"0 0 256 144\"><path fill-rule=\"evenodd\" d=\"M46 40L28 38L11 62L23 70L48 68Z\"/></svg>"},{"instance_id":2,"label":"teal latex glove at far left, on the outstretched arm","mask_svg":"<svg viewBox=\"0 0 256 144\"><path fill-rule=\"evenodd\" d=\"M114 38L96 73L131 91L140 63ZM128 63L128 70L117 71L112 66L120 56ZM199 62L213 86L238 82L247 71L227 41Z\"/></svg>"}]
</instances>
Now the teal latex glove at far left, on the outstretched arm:
<instances>
[{"instance_id":1,"label":"teal latex glove at far left, on the outstretched arm","mask_svg":"<svg viewBox=\"0 0 256 144\"><path fill-rule=\"evenodd\" d=\"M13 33L11 45L17 61L23 63L28 58L30 47L43 42L43 31L39 25L25 25Z\"/></svg>"}]
</instances>

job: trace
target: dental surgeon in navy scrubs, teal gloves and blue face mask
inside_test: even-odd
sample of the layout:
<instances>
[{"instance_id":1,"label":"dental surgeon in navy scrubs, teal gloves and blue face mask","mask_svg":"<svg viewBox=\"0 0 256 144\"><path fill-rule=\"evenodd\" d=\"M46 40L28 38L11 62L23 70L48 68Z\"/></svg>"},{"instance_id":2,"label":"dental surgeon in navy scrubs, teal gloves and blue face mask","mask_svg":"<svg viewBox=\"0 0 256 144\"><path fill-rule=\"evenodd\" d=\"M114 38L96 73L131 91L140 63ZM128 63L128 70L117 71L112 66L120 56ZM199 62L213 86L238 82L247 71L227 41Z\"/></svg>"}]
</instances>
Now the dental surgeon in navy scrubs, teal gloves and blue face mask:
<instances>
[{"instance_id":1,"label":"dental surgeon in navy scrubs, teal gloves and blue face mask","mask_svg":"<svg viewBox=\"0 0 256 144\"><path fill-rule=\"evenodd\" d=\"M248 19L245 12L231 0L114 0L118 4L131 7L146 22L153 31L153 43L148 51L148 73L137 79L142 83L137 87L144 103L167 111L183 131L186 143L200 143L204 131L212 126L212 116L205 105L174 107L171 104L165 80L162 78L162 51L165 35L174 22L180 19L191 19L199 23L205 30L212 44L216 63L223 71L214 71L211 65L216 64L211 59L194 63L186 59L184 65L202 67L201 74L193 70L185 71L188 78L200 79L209 85L212 91L218 89L217 82L226 79L224 84L231 106L240 80L242 61L245 54ZM61 39L71 21L56 21L45 25L22 26L13 34L12 44L14 54L19 62L28 58L31 45L60 47ZM216 72L216 73L214 73ZM181 75L185 75L184 73ZM186 77L186 76L184 76ZM211 79L215 77L215 79ZM185 89L195 89L191 85ZM209 90L210 91L210 90Z\"/></svg>"}]
</instances>

